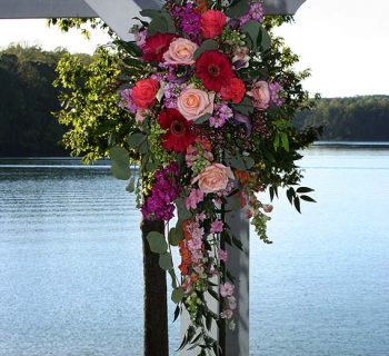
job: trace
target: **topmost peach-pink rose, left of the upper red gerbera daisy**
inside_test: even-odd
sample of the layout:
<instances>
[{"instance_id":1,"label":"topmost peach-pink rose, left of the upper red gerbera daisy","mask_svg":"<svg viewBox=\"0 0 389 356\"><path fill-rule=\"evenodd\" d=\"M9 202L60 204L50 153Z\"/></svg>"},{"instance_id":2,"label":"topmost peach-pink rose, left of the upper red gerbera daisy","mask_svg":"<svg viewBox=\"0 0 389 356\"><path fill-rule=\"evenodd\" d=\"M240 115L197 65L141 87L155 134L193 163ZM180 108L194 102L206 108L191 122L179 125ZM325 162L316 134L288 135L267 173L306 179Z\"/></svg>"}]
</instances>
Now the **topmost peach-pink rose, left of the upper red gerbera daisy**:
<instances>
[{"instance_id":1,"label":"topmost peach-pink rose, left of the upper red gerbera daisy","mask_svg":"<svg viewBox=\"0 0 389 356\"><path fill-rule=\"evenodd\" d=\"M184 38L178 38L173 40L169 50L163 55L163 59L168 65L186 65L190 66L194 63L193 55L199 48L194 42Z\"/></svg>"}]
</instances>

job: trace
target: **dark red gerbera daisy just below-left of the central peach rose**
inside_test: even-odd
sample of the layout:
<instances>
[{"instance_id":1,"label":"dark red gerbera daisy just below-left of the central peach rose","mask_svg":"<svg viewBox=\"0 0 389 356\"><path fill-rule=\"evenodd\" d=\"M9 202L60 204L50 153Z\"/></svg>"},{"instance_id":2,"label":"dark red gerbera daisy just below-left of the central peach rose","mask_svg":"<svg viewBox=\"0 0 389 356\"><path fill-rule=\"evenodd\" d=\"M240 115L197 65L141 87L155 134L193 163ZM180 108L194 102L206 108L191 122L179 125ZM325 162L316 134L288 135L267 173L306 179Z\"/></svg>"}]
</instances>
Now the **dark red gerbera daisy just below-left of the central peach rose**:
<instances>
[{"instance_id":1,"label":"dark red gerbera daisy just below-left of the central peach rose","mask_svg":"<svg viewBox=\"0 0 389 356\"><path fill-rule=\"evenodd\" d=\"M164 109L158 117L159 125L168 131L162 137L162 146L170 151L183 152L194 142L191 123L177 109Z\"/></svg>"}]
</instances>

